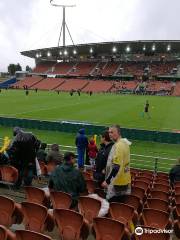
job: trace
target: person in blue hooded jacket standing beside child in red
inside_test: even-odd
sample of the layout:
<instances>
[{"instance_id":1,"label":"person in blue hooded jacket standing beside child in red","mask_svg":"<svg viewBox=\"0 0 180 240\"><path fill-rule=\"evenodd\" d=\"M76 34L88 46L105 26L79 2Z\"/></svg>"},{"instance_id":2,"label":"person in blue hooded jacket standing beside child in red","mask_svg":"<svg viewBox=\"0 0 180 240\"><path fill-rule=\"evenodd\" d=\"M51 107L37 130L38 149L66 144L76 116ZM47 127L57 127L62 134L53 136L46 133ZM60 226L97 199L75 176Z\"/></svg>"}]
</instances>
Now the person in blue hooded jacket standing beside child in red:
<instances>
[{"instance_id":1,"label":"person in blue hooded jacket standing beside child in red","mask_svg":"<svg viewBox=\"0 0 180 240\"><path fill-rule=\"evenodd\" d=\"M86 148L88 146L88 138L85 135L84 128L79 130L79 133L77 134L77 137L76 137L75 144L76 144L77 153L78 153L78 167L83 168L84 167L84 155L86 152Z\"/></svg>"}]
</instances>

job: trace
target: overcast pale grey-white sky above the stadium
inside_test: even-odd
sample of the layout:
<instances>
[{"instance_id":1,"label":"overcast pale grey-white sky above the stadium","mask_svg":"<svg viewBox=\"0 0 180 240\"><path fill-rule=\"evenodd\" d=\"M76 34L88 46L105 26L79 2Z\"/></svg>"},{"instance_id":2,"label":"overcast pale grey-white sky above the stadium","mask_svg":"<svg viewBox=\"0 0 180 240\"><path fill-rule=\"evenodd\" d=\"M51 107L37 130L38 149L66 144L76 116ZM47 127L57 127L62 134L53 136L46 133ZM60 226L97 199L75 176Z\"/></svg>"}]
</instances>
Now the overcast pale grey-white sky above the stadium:
<instances>
[{"instance_id":1,"label":"overcast pale grey-white sky above the stadium","mask_svg":"<svg viewBox=\"0 0 180 240\"><path fill-rule=\"evenodd\" d=\"M75 3L66 22L75 44L180 39L180 0L56 0ZM0 71L34 66L24 50L57 46L62 10L50 0L0 0ZM67 43L71 43L67 39Z\"/></svg>"}]
</instances>

